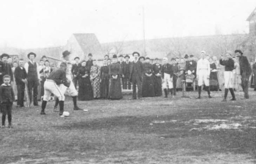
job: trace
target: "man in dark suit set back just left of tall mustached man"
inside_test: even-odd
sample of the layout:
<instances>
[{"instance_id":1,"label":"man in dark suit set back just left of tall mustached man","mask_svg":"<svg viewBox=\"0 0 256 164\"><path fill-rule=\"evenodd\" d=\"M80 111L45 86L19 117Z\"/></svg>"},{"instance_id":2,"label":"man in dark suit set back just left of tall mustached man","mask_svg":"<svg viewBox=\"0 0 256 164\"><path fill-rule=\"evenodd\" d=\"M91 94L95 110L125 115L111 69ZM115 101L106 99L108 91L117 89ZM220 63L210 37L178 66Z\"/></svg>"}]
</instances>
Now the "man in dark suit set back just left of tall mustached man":
<instances>
[{"instance_id":1,"label":"man in dark suit set back just left of tall mustached man","mask_svg":"<svg viewBox=\"0 0 256 164\"><path fill-rule=\"evenodd\" d=\"M126 55L124 57L125 61L123 64L123 74L124 74L124 78L123 78L123 89L127 89L127 83L128 83L128 89L131 89L131 82L129 81L129 77L130 77L130 66L131 66L131 62L130 60L130 56Z\"/></svg>"}]
</instances>

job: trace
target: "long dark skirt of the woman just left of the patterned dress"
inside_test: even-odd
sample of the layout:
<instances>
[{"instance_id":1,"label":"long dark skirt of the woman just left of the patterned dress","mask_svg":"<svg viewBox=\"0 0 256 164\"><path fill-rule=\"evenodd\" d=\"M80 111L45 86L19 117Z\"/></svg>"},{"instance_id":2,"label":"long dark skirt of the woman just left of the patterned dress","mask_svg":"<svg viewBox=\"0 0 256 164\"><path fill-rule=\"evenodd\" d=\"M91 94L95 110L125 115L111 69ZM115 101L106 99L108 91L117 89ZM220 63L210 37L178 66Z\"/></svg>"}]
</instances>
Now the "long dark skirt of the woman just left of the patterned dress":
<instances>
[{"instance_id":1,"label":"long dark skirt of the woman just left of the patterned dress","mask_svg":"<svg viewBox=\"0 0 256 164\"><path fill-rule=\"evenodd\" d=\"M78 100L86 101L93 99L93 89L89 77L80 78L78 80Z\"/></svg>"}]
</instances>

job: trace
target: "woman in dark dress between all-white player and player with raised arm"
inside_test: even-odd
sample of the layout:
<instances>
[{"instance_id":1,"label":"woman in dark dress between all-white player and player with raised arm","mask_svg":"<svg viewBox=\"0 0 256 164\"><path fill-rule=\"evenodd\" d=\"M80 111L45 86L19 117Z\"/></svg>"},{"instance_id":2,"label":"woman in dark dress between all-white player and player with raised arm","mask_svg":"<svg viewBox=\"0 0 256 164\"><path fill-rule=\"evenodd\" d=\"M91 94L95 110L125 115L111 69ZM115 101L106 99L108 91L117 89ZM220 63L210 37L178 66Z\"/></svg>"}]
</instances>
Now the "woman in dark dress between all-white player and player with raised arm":
<instances>
[{"instance_id":1,"label":"woman in dark dress between all-white player and player with raised arm","mask_svg":"<svg viewBox=\"0 0 256 164\"><path fill-rule=\"evenodd\" d=\"M210 58L210 79L209 79L209 83L210 83L210 90L211 91L218 91L219 89L219 83L218 83L218 75L217 75L217 67L216 64L213 62L213 59Z\"/></svg>"}]
</instances>

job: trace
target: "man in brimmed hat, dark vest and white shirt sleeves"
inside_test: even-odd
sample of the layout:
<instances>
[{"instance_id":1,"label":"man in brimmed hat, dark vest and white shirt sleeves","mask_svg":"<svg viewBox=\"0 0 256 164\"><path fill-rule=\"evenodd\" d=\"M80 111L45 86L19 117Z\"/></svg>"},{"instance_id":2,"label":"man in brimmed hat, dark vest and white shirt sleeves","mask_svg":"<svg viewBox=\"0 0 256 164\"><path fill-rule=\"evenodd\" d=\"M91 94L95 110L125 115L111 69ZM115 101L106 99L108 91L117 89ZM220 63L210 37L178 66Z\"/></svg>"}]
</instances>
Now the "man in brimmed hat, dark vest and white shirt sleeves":
<instances>
[{"instance_id":1,"label":"man in brimmed hat, dark vest and white shirt sleeves","mask_svg":"<svg viewBox=\"0 0 256 164\"><path fill-rule=\"evenodd\" d=\"M29 61L25 63L24 68L27 72L27 81L28 81L28 95L29 100L32 102L32 90L33 90L33 104L38 106L38 85L39 85L39 65L35 62L36 54L30 52L28 55Z\"/></svg>"}]
</instances>

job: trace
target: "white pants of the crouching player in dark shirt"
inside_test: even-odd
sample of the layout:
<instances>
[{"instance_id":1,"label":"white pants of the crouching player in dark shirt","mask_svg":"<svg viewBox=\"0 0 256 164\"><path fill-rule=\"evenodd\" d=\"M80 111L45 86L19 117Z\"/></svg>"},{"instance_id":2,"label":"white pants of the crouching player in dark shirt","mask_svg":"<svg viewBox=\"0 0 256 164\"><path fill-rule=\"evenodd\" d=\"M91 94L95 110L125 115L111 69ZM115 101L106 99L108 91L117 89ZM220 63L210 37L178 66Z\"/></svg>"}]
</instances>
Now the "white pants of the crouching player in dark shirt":
<instances>
[{"instance_id":1,"label":"white pants of the crouching player in dark shirt","mask_svg":"<svg viewBox=\"0 0 256 164\"><path fill-rule=\"evenodd\" d=\"M50 95L52 93L54 94L54 96L58 97L58 99L60 101L65 100L65 96L64 96L63 92L60 89L60 85L57 85L54 81L46 80L45 84L43 85L43 88L44 88L44 95L43 95L43 100L44 101L49 101L50 100Z\"/></svg>"}]
</instances>

